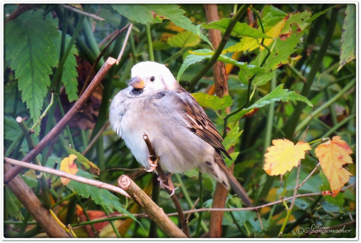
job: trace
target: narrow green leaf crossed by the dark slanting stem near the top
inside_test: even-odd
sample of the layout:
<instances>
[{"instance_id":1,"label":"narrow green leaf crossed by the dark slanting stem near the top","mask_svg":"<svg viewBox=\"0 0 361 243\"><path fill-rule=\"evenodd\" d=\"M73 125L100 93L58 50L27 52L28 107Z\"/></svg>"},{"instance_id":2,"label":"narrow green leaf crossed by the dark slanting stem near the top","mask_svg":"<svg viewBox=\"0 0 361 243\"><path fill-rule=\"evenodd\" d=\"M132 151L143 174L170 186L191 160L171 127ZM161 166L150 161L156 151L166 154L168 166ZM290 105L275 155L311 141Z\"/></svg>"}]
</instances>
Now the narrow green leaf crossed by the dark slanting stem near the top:
<instances>
[{"instance_id":1,"label":"narrow green leaf crossed by the dark slanting stem near the top","mask_svg":"<svg viewBox=\"0 0 361 243\"><path fill-rule=\"evenodd\" d=\"M230 18L223 18L218 21L203 23L201 24L201 27L206 29L216 29L216 30L225 31L226 28L229 26L230 22L231 22ZM253 37L253 38L271 38L266 34L263 34L262 31L259 31L255 28L248 26L247 23L240 23L240 22L236 23L235 27L231 32L231 36L235 36L239 38L245 36Z\"/></svg>"}]
</instances>

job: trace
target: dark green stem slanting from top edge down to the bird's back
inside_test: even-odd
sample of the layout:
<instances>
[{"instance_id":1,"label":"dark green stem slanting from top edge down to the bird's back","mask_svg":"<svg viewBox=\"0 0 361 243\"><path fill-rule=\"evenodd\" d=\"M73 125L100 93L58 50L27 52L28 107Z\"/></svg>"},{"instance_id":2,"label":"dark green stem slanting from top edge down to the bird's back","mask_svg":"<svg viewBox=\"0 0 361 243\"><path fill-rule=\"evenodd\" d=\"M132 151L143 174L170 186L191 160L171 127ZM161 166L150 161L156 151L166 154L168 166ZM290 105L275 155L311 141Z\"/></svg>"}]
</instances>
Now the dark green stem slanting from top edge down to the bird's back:
<instances>
[{"instance_id":1,"label":"dark green stem slanting from top edge down to the bird's back","mask_svg":"<svg viewBox=\"0 0 361 243\"><path fill-rule=\"evenodd\" d=\"M197 82L205 75L205 73L213 66L213 64L217 61L219 55L221 55L223 48L225 47L228 38L231 35L231 32L236 25L236 23L239 21L239 19L242 17L242 15L247 11L247 8L251 4L243 4L239 10L236 12L236 14L231 18L231 21L226 28L226 31L223 34L222 41L219 43L216 51L214 52L213 56L209 59L209 61L203 66L203 68L197 72L197 74L192 78L192 80L189 82L189 86L186 88L188 92L191 92L194 86L197 84Z\"/></svg>"}]
</instances>

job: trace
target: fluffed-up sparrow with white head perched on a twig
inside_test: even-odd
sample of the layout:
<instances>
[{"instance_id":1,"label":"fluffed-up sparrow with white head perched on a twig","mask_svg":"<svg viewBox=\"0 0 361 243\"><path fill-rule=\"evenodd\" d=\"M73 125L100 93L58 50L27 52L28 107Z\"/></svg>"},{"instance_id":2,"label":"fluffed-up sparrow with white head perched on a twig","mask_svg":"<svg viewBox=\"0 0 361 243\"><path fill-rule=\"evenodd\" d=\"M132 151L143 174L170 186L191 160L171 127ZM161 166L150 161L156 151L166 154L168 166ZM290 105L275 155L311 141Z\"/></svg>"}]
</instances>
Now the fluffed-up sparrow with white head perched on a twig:
<instances>
[{"instance_id":1,"label":"fluffed-up sparrow with white head perched on a twig","mask_svg":"<svg viewBox=\"0 0 361 243\"><path fill-rule=\"evenodd\" d=\"M161 165L171 176L199 168L252 205L223 160L222 153L231 157L222 145L222 136L165 65L145 61L132 67L129 86L110 103L109 122L147 171ZM144 134L154 147L156 161L150 159ZM174 193L174 187L171 189Z\"/></svg>"}]
</instances>

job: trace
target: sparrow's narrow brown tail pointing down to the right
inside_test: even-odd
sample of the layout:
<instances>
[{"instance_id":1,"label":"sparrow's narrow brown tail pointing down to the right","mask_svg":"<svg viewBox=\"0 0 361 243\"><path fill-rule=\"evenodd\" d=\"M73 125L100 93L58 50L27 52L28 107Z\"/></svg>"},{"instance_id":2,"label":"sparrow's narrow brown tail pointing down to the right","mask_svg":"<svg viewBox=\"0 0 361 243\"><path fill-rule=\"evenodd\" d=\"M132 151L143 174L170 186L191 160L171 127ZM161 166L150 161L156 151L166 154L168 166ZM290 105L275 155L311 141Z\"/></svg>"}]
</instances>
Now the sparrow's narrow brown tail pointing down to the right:
<instances>
[{"instance_id":1,"label":"sparrow's narrow brown tail pointing down to the right","mask_svg":"<svg viewBox=\"0 0 361 243\"><path fill-rule=\"evenodd\" d=\"M233 191L245 202L248 206L252 206L251 199L247 195L246 190L232 174L231 170L223 161L222 155L216 151L214 153L214 162L206 162L199 167L202 172L213 176L219 183L225 186L228 190L232 187Z\"/></svg>"}]
</instances>

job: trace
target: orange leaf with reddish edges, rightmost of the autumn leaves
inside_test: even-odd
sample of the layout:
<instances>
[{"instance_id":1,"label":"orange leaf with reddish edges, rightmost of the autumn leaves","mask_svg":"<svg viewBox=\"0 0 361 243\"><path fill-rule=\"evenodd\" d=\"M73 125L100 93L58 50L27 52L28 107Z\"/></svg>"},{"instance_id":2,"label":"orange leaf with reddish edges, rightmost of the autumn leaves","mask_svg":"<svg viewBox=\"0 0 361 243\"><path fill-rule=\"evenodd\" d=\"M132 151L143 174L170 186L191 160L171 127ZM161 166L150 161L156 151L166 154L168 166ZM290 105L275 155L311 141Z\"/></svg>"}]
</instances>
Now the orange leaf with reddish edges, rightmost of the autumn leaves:
<instances>
[{"instance_id":1,"label":"orange leaf with reddish edges, rightmost of the autumn leaves","mask_svg":"<svg viewBox=\"0 0 361 243\"><path fill-rule=\"evenodd\" d=\"M335 136L332 140L318 145L315 153L330 182L332 192L337 194L352 175L342 167L344 164L352 163L349 156L352 150L345 141L341 140L341 137Z\"/></svg>"}]
</instances>

